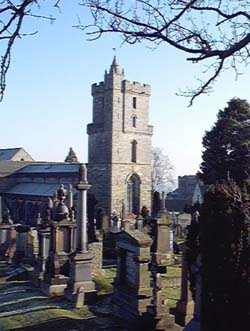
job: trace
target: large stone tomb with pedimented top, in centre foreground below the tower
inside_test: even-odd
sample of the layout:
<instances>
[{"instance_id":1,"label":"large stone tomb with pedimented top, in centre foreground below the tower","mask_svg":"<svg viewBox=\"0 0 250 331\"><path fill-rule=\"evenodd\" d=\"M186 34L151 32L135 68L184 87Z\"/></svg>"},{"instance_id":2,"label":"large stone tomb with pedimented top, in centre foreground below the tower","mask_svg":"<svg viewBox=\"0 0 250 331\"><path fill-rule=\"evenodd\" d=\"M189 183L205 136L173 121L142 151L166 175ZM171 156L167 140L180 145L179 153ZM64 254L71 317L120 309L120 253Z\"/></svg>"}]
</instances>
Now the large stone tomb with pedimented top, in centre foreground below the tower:
<instances>
[{"instance_id":1,"label":"large stone tomb with pedimented top, in centre foreground below the tower","mask_svg":"<svg viewBox=\"0 0 250 331\"><path fill-rule=\"evenodd\" d=\"M114 314L131 321L143 316L151 302L152 289L148 263L152 240L138 230L126 230L117 236Z\"/></svg>"}]
</instances>

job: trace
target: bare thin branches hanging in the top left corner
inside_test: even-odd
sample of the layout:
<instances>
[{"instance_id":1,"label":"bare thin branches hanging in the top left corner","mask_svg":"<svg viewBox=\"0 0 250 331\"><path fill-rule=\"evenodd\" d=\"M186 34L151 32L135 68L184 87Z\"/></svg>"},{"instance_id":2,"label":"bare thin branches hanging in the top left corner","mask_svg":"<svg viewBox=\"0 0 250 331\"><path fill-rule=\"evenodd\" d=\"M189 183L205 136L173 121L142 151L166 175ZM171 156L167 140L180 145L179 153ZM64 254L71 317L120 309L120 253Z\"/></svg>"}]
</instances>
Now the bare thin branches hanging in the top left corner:
<instances>
[{"instance_id":1,"label":"bare thin branches hanging in the top left corner","mask_svg":"<svg viewBox=\"0 0 250 331\"><path fill-rule=\"evenodd\" d=\"M59 8L61 0L48 0L52 7ZM39 0L0 0L0 101L3 99L6 87L6 75L10 68L11 53L17 39L36 31L23 32L23 24L28 18L48 19L55 18L41 14Z\"/></svg>"}]
</instances>

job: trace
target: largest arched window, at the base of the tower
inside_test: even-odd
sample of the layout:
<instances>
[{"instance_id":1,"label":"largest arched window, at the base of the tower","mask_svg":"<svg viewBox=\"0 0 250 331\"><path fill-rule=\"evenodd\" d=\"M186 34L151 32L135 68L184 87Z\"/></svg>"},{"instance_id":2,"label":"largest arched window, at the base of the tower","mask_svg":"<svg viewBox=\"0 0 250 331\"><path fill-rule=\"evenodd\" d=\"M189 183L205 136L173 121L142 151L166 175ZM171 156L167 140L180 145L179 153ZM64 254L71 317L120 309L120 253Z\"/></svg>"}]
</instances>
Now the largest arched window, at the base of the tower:
<instances>
[{"instance_id":1,"label":"largest arched window, at the base of the tower","mask_svg":"<svg viewBox=\"0 0 250 331\"><path fill-rule=\"evenodd\" d=\"M127 213L138 215L140 211L140 177L133 173L127 180Z\"/></svg>"}]
</instances>

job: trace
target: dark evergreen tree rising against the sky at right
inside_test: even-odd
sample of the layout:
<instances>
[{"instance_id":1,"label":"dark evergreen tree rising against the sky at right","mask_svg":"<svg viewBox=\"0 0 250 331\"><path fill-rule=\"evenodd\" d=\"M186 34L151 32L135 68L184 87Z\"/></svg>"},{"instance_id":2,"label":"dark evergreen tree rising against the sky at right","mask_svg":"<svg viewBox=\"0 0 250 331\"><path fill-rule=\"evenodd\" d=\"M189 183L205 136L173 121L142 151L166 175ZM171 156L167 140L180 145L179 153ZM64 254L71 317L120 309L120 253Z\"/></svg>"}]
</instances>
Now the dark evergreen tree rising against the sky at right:
<instances>
[{"instance_id":1,"label":"dark evergreen tree rising against the sky at right","mask_svg":"<svg viewBox=\"0 0 250 331\"><path fill-rule=\"evenodd\" d=\"M250 175L250 105L234 98L220 110L203 137L205 148L199 177L205 184L233 178L242 184Z\"/></svg>"}]
</instances>

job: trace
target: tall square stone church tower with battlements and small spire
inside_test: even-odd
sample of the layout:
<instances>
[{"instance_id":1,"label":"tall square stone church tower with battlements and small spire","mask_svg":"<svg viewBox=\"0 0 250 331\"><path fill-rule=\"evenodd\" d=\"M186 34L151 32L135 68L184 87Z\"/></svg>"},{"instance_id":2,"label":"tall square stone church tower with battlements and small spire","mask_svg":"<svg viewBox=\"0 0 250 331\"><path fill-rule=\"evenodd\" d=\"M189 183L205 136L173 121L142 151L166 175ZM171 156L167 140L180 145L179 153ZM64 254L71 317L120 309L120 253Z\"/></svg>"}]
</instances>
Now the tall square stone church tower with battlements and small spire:
<instances>
[{"instance_id":1,"label":"tall square stone church tower with battlements and small spire","mask_svg":"<svg viewBox=\"0 0 250 331\"><path fill-rule=\"evenodd\" d=\"M130 83L114 57L104 81L92 85L88 124L88 180L97 207L138 214L151 206L150 86Z\"/></svg>"}]
</instances>

